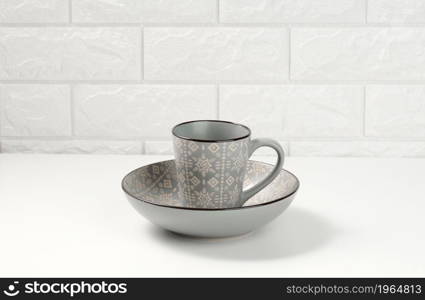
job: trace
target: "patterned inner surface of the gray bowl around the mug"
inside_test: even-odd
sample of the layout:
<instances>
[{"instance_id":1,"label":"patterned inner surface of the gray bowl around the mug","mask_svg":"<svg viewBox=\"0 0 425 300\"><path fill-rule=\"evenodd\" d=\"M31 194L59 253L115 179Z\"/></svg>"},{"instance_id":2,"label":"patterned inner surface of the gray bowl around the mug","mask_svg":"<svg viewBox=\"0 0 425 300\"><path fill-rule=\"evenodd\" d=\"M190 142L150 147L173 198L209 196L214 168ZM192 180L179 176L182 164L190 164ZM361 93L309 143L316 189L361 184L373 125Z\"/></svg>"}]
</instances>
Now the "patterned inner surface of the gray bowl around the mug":
<instances>
[{"instance_id":1,"label":"patterned inner surface of the gray bowl around the mug","mask_svg":"<svg viewBox=\"0 0 425 300\"><path fill-rule=\"evenodd\" d=\"M272 165L248 161L244 189L249 188L270 173ZM167 160L141 167L125 176L122 182L124 190L132 197L149 203L187 207L178 197L178 184L174 160ZM282 170L276 179L244 206L264 204L285 198L298 188L298 179L291 173Z\"/></svg>"}]
</instances>

